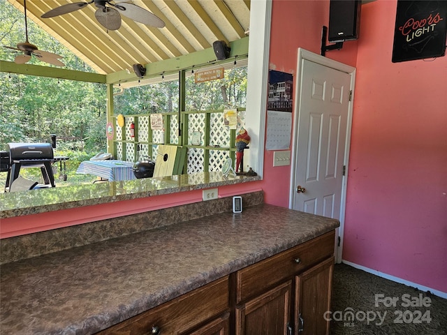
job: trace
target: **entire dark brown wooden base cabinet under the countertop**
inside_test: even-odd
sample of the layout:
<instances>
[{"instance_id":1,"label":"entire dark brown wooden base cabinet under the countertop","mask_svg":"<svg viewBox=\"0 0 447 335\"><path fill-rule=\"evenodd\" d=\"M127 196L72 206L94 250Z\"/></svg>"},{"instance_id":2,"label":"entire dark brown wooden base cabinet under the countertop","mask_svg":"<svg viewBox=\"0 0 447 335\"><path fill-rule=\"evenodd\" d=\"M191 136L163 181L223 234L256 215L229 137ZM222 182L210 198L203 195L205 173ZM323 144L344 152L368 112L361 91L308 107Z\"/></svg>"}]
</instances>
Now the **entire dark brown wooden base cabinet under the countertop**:
<instances>
[{"instance_id":1,"label":"entire dark brown wooden base cabinet under the countertop","mask_svg":"<svg viewBox=\"0 0 447 335\"><path fill-rule=\"evenodd\" d=\"M98 334L328 334L334 240L328 232Z\"/></svg>"}]
</instances>

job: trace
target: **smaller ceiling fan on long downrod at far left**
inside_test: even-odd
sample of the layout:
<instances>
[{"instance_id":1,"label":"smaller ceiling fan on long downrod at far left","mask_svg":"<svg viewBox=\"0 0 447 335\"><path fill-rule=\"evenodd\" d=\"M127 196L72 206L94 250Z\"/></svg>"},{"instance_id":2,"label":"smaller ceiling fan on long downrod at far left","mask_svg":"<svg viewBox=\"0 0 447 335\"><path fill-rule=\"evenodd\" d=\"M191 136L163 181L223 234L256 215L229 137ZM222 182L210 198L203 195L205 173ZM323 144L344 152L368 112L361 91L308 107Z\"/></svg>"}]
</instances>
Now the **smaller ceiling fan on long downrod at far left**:
<instances>
[{"instance_id":1,"label":"smaller ceiling fan on long downrod at far left","mask_svg":"<svg viewBox=\"0 0 447 335\"><path fill-rule=\"evenodd\" d=\"M24 6L24 15L25 15L25 37L27 38L26 42L17 43L17 47L8 47L3 45L3 47L7 47L8 49L16 50L23 52L15 57L15 64L24 64L31 59L31 55L37 57L40 61L45 61L45 63L49 63L56 66L65 66L64 63L59 61L62 56L59 54L53 54L52 52L47 52L43 50L38 50L36 45L29 43L28 41L28 23L27 23L27 0L23 2Z\"/></svg>"}]
</instances>

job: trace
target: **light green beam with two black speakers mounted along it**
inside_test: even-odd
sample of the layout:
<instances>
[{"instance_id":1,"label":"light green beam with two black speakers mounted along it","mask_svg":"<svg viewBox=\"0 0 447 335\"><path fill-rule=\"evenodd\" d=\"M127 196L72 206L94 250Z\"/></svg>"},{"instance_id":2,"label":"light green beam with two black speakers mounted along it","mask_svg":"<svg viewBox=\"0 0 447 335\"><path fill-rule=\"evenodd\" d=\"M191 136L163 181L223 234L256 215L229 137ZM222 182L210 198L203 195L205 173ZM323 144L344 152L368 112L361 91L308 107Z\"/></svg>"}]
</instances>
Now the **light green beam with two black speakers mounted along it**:
<instances>
[{"instance_id":1,"label":"light green beam with two black speakers mounted along it","mask_svg":"<svg viewBox=\"0 0 447 335\"><path fill-rule=\"evenodd\" d=\"M248 57L249 52L249 38L244 37L240 40L235 40L230 43L231 52L228 59L232 59L237 57L237 59L244 59ZM166 59L164 61L156 61L154 63L149 63L145 65L146 74L144 78L161 76L162 73L171 74L178 73L179 70L188 70L193 68L197 69L200 67L210 66L214 64L223 64L228 62L228 59L225 61L216 61L216 55L214 54L214 50L212 47L193 52L191 54L184 54L180 57L175 57L171 59ZM127 73L126 70L122 70L115 73L110 73L107 75L108 84L115 84L117 82L133 82L137 81L138 77L135 76L135 73Z\"/></svg>"}]
</instances>

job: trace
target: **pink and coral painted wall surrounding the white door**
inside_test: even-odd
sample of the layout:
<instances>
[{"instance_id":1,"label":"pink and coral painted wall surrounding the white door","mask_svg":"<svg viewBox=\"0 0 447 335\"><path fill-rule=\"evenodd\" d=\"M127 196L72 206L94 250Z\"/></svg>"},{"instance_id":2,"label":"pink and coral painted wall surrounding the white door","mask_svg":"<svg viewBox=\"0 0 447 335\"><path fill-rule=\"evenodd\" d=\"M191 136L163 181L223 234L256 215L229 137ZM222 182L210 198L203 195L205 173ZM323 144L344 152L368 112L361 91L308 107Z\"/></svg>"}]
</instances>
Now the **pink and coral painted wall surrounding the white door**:
<instances>
[{"instance_id":1,"label":"pink and coral painted wall surrounding the white door","mask_svg":"<svg viewBox=\"0 0 447 335\"><path fill-rule=\"evenodd\" d=\"M393 64L396 6L362 6L359 40L326 54L357 68L343 258L447 292L447 57ZM295 75L298 47L319 54L328 13L329 1L274 0L270 69ZM272 156L265 201L287 207L290 168Z\"/></svg>"}]
</instances>

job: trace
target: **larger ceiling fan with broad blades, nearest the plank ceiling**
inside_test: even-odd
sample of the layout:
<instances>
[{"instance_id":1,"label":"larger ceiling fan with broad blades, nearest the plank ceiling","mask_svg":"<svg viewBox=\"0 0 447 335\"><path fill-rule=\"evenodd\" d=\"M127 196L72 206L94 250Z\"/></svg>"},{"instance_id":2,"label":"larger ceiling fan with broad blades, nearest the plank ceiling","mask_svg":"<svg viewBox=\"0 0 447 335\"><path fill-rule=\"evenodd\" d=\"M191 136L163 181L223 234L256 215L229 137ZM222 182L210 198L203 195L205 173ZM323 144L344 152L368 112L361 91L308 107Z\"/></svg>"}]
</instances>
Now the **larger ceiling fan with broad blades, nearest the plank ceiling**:
<instances>
[{"instance_id":1,"label":"larger ceiling fan with broad blades, nearest the plank ceiling","mask_svg":"<svg viewBox=\"0 0 447 335\"><path fill-rule=\"evenodd\" d=\"M115 3L112 3L115 2ZM142 24L147 24L151 27L163 28L165 27L165 22L161 20L158 16L141 8L140 6L134 5L129 2L122 2L119 0L91 0L89 2L74 2L67 3L66 5L54 8L47 13L41 15L43 18L54 17L58 15L64 15L66 13L74 12L75 10L84 8L90 3L94 3L96 6L95 17L98 22L108 30L117 30L121 27L121 15L129 17L129 19Z\"/></svg>"}]
</instances>

